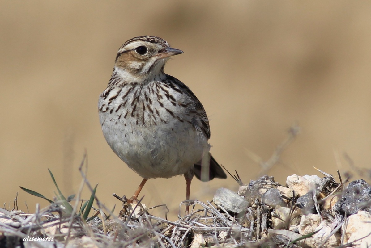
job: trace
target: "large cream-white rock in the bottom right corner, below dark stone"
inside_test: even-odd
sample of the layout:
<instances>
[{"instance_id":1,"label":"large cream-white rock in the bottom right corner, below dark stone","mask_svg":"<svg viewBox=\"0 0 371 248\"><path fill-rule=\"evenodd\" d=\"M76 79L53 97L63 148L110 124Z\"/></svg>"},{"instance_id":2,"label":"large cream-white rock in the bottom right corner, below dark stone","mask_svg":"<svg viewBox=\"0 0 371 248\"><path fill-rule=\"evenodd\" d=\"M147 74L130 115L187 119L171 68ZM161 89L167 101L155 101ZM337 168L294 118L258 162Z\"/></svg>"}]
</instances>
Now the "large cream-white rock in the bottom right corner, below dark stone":
<instances>
[{"instance_id":1,"label":"large cream-white rock in the bottom right corner, below dark stone","mask_svg":"<svg viewBox=\"0 0 371 248\"><path fill-rule=\"evenodd\" d=\"M345 229L345 230L344 230ZM371 214L366 211L358 211L357 214L348 217L342 226L345 231L344 244L354 242L354 247L366 248L371 245Z\"/></svg>"}]
</instances>

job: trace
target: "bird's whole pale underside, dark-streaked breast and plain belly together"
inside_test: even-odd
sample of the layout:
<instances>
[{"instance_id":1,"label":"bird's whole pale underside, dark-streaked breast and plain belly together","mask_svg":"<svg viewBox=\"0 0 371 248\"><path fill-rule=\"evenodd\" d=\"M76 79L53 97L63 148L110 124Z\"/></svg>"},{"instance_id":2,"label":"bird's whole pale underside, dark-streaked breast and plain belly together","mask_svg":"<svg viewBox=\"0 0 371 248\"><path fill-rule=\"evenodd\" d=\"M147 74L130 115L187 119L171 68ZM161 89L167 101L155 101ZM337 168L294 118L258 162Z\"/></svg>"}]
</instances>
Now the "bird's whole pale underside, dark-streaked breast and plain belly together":
<instances>
[{"instance_id":1,"label":"bird's whole pale underside, dark-streaked breast and plain belly together","mask_svg":"<svg viewBox=\"0 0 371 248\"><path fill-rule=\"evenodd\" d=\"M117 75L121 74L115 69L112 82L120 78ZM166 80L174 85L162 83ZM184 88L177 79L161 74L142 85L108 86L99 97L99 119L108 145L143 178L190 173L209 152L202 131L206 114Z\"/></svg>"}]
</instances>

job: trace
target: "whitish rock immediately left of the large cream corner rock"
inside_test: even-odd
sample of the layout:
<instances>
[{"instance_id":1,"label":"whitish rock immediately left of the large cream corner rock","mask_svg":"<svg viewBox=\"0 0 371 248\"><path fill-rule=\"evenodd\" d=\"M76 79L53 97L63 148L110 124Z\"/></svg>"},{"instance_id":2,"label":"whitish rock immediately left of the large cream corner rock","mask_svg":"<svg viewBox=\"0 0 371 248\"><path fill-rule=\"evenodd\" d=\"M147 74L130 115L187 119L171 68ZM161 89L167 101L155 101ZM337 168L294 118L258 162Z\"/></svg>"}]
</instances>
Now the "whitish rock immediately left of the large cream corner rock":
<instances>
[{"instance_id":1,"label":"whitish rock immediately left of the large cream corner rock","mask_svg":"<svg viewBox=\"0 0 371 248\"><path fill-rule=\"evenodd\" d=\"M322 244L325 239L327 239L331 232L331 224L329 222L321 222L315 231L318 231L316 234L313 235L313 244L314 247L318 247L320 244ZM335 233L334 235L331 235L329 239L325 242L325 244L322 246L324 248L331 248L331 247L338 247L340 245L340 235L338 233Z\"/></svg>"}]
</instances>

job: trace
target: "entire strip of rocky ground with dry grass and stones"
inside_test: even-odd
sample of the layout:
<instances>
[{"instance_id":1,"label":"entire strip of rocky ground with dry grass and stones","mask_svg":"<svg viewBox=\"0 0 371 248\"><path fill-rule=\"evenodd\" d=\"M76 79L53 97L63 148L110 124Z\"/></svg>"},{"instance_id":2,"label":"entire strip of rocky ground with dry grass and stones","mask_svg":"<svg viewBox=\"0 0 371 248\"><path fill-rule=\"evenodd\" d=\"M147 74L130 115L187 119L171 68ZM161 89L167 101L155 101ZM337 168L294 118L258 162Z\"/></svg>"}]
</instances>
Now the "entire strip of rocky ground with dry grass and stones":
<instances>
[{"instance_id":1,"label":"entire strip of rocky ground with dry grass and stones","mask_svg":"<svg viewBox=\"0 0 371 248\"><path fill-rule=\"evenodd\" d=\"M174 222L125 199L120 216L107 216L96 196L100 210L89 221L66 215L58 201L34 214L0 209L0 247L368 247L371 186L359 179L344 188L347 179L320 172L288 176L284 185L231 175L238 192L220 188L213 201L182 202L191 213Z\"/></svg>"}]
</instances>

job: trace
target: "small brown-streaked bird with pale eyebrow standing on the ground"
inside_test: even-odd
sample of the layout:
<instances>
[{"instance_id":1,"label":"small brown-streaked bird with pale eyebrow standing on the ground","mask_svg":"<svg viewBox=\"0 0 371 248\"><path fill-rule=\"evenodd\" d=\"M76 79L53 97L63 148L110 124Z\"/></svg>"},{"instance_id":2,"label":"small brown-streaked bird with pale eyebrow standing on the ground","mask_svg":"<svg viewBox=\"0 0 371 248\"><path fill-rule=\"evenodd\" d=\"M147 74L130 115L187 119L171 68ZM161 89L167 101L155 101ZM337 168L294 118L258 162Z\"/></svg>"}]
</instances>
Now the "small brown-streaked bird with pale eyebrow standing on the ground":
<instances>
[{"instance_id":1,"label":"small brown-streaked bird with pale eyebrow standing on the ground","mask_svg":"<svg viewBox=\"0 0 371 248\"><path fill-rule=\"evenodd\" d=\"M203 105L184 83L164 73L167 60L181 53L157 36L129 39L119 48L111 79L99 96L106 142L143 178L129 203L138 202L148 179L184 175L189 200L194 175L201 181L227 178L210 154Z\"/></svg>"}]
</instances>

